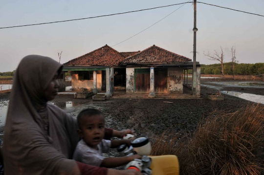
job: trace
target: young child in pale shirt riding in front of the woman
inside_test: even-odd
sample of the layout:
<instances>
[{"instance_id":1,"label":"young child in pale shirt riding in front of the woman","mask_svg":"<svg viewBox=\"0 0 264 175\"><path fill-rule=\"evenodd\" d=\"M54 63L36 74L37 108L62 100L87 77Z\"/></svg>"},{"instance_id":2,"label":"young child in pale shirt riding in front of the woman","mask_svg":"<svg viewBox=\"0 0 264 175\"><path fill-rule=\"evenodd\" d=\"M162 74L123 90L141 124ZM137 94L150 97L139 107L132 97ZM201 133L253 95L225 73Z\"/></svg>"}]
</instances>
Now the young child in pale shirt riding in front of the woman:
<instances>
[{"instance_id":1,"label":"young child in pale shirt riding in front of the woman","mask_svg":"<svg viewBox=\"0 0 264 175\"><path fill-rule=\"evenodd\" d=\"M105 140L105 117L97 109L84 109L77 117L78 133L82 140L79 141L73 159L93 166L106 168L118 167L129 163L134 158L141 158L140 155L124 157L104 157L102 153L107 153L110 148L117 148L120 145L130 145L132 139L127 140Z\"/></svg>"}]
</instances>

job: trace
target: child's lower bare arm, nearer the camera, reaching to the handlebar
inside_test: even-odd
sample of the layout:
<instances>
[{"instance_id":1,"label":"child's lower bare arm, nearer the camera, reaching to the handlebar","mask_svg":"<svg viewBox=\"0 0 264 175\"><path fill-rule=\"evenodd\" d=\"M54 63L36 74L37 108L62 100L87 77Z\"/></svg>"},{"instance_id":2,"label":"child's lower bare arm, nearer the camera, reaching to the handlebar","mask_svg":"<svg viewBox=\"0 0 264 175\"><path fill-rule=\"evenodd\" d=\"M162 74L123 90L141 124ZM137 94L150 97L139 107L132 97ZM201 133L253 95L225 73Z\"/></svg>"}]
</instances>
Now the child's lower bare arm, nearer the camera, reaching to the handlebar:
<instances>
[{"instance_id":1,"label":"child's lower bare arm, nearer the camera, reaching to the handlebar","mask_svg":"<svg viewBox=\"0 0 264 175\"><path fill-rule=\"evenodd\" d=\"M132 160L134 160L134 158L141 159L141 156L135 154L132 156L124 156L124 157L107 157L103 160L100 166L106 168L119 167L121 165L131 162Z\"/></svg>"}]
</instances>

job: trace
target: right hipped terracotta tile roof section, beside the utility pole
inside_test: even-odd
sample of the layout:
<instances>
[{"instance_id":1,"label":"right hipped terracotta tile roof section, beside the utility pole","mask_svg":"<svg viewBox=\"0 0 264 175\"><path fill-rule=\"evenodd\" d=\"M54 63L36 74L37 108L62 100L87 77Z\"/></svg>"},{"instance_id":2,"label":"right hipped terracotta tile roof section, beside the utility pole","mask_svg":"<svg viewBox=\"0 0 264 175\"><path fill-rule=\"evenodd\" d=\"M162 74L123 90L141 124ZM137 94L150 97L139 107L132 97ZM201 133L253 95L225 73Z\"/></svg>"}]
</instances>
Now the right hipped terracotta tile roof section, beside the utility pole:
<instances>
[{"instance_id":1,"label":"right hipped terracotta tile roof section, beside the utility pole","mask_svg":"<svg viewBox=\"0 0 264 175\"><path fill-rule=\"evenodd\" d=\"M160 48L158 46L151 46L135 55L132 55L122 61L120 64L129 63L163 63L163 62L191 62L192 60L168 51L166 49Z\"/></svg>"}]
</instances>

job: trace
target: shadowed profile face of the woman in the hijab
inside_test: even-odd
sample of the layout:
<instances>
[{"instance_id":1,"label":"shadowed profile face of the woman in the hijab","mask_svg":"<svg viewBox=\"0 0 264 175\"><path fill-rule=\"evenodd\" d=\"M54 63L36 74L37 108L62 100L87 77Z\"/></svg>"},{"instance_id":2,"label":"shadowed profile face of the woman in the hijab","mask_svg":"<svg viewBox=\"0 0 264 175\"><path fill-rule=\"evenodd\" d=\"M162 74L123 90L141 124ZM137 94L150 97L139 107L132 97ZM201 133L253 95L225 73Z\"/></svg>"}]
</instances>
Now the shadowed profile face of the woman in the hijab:
<instances>
[{"instance_id":1,"label":"shadowed profile face of the woman in the hijab","mask_svg":"<svg viewBox=\"0 0 264 175\"><path fill-rule=\"evenodd\" d=\"M56 73L51 82L48 84L44 93L47 101L53 100L55 98L59 92L59 86L58 73Z\"/></svg>"}]
</instances>

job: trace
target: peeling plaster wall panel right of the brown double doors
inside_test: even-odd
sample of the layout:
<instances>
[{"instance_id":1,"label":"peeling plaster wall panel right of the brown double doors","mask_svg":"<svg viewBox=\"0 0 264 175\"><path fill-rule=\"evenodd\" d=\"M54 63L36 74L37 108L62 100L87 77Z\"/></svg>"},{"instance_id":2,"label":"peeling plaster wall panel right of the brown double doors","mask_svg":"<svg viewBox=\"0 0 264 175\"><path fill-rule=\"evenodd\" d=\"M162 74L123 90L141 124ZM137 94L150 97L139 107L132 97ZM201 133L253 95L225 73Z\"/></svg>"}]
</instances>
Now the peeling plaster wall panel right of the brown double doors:
<instances>
[{"instance_id":1,"label":"peeling plaster wall panel right of the brown double doors","mask_svg":"<svg viewBox=\"0 0 264 175\"><path fill-rule=\"evenodd\" d=\"M168 67L168 92L169 93L183 93L182 86L183 68Z\"/></svg>"}]
</instances>

